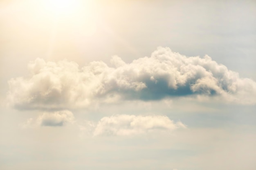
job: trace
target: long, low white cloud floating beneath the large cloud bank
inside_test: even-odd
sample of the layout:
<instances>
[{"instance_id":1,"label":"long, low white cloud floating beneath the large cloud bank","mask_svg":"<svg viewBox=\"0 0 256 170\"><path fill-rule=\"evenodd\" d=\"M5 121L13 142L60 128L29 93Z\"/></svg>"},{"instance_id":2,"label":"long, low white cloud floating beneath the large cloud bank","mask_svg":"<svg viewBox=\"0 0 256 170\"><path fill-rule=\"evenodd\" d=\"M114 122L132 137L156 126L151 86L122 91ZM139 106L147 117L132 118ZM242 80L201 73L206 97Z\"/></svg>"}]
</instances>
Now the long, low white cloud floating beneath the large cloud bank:
<instances>
[{"instance_id":1,"label":"long, low white cloud floating beneath the large cloud bank","mask_svg":"<svg viewBox=\"0 0 256 170\"><path fill-rule=\"evenodd\" d=\"M90 131L93 136L130 136L153 131L173 131L186 128L182 122L174 123L167 116L116 115L102 118L97 124L89 122L81 130Z\"/></svg>"}]
</instances>

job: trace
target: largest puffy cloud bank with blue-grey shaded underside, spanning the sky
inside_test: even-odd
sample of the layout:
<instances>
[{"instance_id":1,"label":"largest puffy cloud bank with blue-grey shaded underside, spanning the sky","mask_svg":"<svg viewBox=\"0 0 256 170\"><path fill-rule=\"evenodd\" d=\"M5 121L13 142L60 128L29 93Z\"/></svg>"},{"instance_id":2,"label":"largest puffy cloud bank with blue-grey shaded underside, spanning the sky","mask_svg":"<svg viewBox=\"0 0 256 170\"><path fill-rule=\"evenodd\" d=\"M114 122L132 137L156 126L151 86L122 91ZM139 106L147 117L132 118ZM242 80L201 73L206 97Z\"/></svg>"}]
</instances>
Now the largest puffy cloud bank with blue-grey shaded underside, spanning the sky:
<instances>
[{"instance_id":1,"label":"largest puffy cloud bank with blue-grey shaded underside, spanning the sky","mask_svg":"<svg viewBox=\"0 0 256 170\"><path fill-rule=\"evenodd\" d=\"M166 97L207 96L221 102L256 103L256 83L211 57L186 57L158 48L151 57L125 63L114 56L112 67L94 61L28 64L30 75L9 81L8 101L18 109L69 109L94 102L160 100Z\"/></svg>"}]
</instances>

